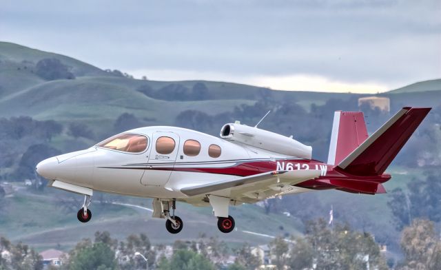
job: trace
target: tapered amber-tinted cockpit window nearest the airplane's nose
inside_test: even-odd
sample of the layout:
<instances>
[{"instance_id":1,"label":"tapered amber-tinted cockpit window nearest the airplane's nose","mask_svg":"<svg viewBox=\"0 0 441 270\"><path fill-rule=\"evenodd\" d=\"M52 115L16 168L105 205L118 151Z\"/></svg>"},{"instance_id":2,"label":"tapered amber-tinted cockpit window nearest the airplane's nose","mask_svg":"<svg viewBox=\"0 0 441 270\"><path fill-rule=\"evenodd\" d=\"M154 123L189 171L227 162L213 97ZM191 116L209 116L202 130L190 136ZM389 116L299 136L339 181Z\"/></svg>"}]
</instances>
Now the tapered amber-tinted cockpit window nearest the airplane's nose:
<instances>
[{"instance_id":1,"label":"tapered amber-tinted cockpit window nearest the airplane's nose","mask_svg":"<svg viewBox=\"0 0 441 270\"><path fill-rule=\"evenodd\" d=\"M122 152L141 153L147 149L147 137L139 134L119 134L98 146Z\"/></svg>"}]
</instances>

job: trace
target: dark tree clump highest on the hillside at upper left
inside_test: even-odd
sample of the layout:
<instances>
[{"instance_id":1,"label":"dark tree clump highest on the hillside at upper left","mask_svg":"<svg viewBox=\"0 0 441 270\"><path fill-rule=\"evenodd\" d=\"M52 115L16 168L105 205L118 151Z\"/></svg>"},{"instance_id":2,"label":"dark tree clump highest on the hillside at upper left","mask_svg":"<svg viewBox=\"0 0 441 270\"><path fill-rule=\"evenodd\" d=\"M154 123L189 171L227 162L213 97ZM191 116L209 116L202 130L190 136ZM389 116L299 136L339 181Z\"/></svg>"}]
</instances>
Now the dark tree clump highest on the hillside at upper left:
<instances>
[{"instance_id":1,"label":"dark tree clump highest on the hillside at upper left","mask_svg":"<svg viewBox=\"0 0 441 270\"><path fill-rule=\"evenodd\" d=\"M75 79L67 65L63 65L59 59L46 58L37 62L35 73L41 78L52 81L58 79Z\"/></svg>"}]
</instances>

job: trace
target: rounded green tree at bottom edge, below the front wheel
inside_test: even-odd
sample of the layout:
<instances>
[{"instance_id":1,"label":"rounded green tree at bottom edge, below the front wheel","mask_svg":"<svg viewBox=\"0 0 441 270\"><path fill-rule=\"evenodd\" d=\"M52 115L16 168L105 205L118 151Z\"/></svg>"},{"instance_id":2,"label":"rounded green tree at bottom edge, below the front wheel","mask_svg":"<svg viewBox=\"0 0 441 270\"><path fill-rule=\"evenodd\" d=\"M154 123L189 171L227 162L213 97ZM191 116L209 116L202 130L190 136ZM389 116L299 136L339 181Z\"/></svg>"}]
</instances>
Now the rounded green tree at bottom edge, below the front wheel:
<instances>
[{"instance_id":1,"label":"rounded green tree at bottom edge, below the front wheel","mask_svg":"<svg viewBox=\"0 0 441 270\"><path fill-rule=\"evenodd\" d=\"M74 258L70 258L70 270L82 269L118 269L115 252L104 242L96 242L91 247L80 249Z\"/></svg>"}]
</instances>

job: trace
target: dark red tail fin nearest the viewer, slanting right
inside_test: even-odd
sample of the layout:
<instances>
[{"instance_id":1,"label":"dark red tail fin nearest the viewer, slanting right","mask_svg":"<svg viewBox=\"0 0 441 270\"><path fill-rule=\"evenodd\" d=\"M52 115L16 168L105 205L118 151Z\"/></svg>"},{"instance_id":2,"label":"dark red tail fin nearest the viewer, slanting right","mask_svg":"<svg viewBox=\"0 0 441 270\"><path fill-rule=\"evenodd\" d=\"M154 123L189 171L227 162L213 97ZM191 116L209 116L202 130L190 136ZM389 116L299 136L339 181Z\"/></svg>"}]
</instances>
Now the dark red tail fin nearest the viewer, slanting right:
<instances>
[{"instance_id":1,"label":"dark red tail fin nearest the viewer, slanting right","mask_svg":"<svg viewBox=\"0 0 441 270\"><path fill-rule=\"evenodd\" d=\"M342 160L338 167L354 175L381 175L430 110L402 108Z\"/></svg>"}]
</instances>

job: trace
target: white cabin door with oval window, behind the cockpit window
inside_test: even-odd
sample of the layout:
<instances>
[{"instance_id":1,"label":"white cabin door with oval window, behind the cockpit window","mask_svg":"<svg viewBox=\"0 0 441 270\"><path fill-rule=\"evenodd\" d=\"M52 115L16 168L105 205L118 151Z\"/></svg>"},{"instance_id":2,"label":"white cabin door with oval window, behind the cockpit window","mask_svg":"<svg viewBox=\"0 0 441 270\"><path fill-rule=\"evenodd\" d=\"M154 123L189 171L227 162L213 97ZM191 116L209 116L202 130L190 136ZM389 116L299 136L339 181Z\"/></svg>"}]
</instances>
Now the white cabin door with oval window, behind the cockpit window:
<instances>
[{"instance_id":1,"label":"white cabin door with oval window, behind the cockpit window","mask_svg":"<svg viewBox=\"0 0 441 270\"><path fill-rule=\"evenodd\" d=\"M172 174L179 149L179 136L174 132L154 132L147 167L141 184L163 186Z\"/></svg>"}]
</instances>

